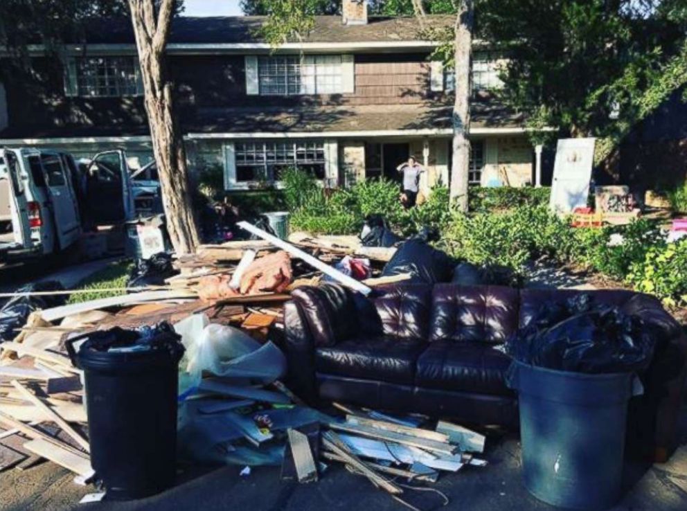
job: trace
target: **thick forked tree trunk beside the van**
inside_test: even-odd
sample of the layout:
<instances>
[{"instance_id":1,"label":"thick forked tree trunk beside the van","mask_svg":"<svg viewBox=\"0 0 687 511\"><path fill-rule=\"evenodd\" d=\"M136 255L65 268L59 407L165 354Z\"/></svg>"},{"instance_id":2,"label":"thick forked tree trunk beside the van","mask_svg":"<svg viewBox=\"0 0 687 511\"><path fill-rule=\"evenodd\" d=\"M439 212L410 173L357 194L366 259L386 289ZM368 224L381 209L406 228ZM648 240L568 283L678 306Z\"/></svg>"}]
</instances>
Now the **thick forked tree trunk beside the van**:
<instances>
[{"instance_id":1,"label":"thick forked tree trunk beside the van","mask_svg":"<svg viewBox=\"0 0 687 511\"><path fill-rule=\"evenodd\" d=\"M175 115L174 90L168 79L165 48L174 0L129 0L141 63L150 138L157 163L167 229L177 255L193 253L199 244L188 185L184 138Z\"/></svg>"}]
</instances>

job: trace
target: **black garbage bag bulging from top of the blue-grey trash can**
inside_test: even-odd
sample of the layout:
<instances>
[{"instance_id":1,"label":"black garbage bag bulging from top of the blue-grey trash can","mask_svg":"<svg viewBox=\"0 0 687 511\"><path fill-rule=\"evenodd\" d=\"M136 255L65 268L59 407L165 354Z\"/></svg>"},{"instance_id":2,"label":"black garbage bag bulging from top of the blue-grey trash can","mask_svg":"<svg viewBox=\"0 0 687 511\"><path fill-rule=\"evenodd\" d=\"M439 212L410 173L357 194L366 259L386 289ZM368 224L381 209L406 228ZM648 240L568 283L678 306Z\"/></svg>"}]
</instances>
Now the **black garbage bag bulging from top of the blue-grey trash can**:
<instances>
[{"instance_id":1,"label":"black garbage bag bulging from top of the blue-grey trash can","mask_svg":"<svg viewBox=\"0 0 687 511\"><path fill-rule=\"evenodd\" d=\"M506 342L524 364L573 373L639 373L650 364L657 339L639 316L594 304L589 295L549 303Z\"/></svg>"}]
</instances>

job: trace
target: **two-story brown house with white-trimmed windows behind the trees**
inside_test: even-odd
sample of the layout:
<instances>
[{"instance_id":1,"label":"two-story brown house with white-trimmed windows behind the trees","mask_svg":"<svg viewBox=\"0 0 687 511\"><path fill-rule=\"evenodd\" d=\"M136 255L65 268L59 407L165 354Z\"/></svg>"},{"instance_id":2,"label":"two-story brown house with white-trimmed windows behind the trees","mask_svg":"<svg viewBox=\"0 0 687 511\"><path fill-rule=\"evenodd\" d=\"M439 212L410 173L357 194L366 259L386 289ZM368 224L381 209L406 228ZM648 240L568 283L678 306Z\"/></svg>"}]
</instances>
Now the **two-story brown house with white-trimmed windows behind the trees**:
<instances>
[{"instance_id":1,"label":"two-story brown house with white-trimmed windows behind the trees","mask_svg":"<svg viewBox=\"0 0 687 511\"><path fill-rule=\"evenodd\" d=\"M428 169L422 186L447 183L452 73L429 60L436 43L418 36L416 19L368 19L364 7L343 0L343 17L316 17L303 42L278 51L256 35L260 17L175 19L167 58L191 167L219 165L227 190L278 182L289 166L333 186L396 179L413 155ZM0 145L76 156L125 147L145 163L152 153L130 21L93 21L84 40L59 61L36 46L33 72L2 84ZM535 154L521 117L490 93L500 59L474 48L470 181L520 186L535 179Z\"/></svg>"}]
</instances>

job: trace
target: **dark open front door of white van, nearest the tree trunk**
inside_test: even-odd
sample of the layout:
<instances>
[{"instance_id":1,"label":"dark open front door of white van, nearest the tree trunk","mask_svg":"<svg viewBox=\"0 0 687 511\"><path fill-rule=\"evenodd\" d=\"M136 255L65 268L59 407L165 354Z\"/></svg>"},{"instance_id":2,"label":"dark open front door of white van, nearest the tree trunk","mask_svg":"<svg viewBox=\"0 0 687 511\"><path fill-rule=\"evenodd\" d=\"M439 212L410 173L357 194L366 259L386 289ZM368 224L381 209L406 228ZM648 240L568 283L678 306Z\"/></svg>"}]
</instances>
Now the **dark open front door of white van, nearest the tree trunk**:
<instances>
[{"instance_id":1,"label":"dark open front door of white van, nearest the tree trunk","mask_svg":"<svg viewBox=\"0 0 687 511\"><path fill-rule=\"evenodd\" d=\"M124 151L96 154L88 168L87 203L96 224L134 219L134 197Z\"/></svg>"}]
</instances>

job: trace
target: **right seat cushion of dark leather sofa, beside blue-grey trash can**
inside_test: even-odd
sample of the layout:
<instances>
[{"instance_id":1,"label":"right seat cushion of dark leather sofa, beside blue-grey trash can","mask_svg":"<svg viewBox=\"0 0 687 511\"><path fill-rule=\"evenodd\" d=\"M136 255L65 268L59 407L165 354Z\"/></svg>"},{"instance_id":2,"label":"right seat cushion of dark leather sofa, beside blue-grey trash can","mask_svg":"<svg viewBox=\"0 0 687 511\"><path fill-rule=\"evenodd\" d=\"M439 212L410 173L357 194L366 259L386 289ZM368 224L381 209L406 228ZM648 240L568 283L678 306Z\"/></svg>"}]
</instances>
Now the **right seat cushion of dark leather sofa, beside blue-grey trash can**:
<instances>
[{"instance_id":1,"label":"right seat cushion of dark leather sofa, beside blue-grey trash can","mask_svg":"<svg viewBox=\"0 0 687 511\"><path fill-rule=\"evenodd\" d=\"M418 387L512 395L506 387L510 357L484 343L436 341L418 359Z\"/></svg>"}]
</instances>

